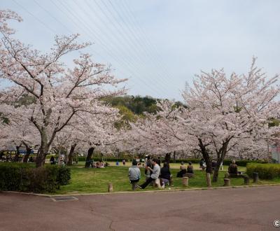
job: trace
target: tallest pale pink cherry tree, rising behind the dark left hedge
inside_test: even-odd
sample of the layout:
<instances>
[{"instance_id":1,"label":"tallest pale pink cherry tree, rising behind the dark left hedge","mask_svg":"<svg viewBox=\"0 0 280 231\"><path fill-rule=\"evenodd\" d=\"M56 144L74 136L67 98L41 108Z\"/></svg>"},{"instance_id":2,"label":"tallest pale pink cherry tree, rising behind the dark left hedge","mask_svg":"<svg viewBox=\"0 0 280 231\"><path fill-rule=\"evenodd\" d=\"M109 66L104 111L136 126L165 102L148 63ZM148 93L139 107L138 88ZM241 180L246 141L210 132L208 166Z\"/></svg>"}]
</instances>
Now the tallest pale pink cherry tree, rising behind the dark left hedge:
<instances>
[{"instance_id":1,"label":"tallest pale pink cherry tree, rising behind the dark left hedge","mask_svg":"<svg viewBox=\"0 0 280 231\"><path fill-rule=\"evenodd\" d=\"M1 91L1 113L6 113L4 104L13 104L15 111L24 111L36 127L41 137L36 166L41 167L57 132L77 116L102 113L99 99L124 94L124 88L112 87L126 79L115 78L111 69L93 62L88 54L80 55L73 60L73 67L66 68L62 58L90 43L76 43L78 34L56 36L50 52L43 54L13 38L14 31L6 23L11 19L21 20L16 13L0 11L0 77L13 83ZM23 94L32 97L34 103L16 104Z\"/></svg>"}]
</instances>

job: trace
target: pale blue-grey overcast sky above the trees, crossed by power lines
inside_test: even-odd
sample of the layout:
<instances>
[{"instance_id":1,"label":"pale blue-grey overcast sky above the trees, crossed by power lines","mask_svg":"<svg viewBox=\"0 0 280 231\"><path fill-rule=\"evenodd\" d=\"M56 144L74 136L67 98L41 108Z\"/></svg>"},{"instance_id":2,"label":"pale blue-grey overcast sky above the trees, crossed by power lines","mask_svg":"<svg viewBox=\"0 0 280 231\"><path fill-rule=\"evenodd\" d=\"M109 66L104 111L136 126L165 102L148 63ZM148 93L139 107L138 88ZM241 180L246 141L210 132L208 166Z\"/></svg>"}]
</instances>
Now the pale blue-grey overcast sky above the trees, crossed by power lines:
<instances>
[{"instance_id":1,"label":"pale blue-grey overcast sky above the trees, crossed by power lines","mask_svg":"<svg viewBox=\"0 0 280 231\"><path fill-rule=\"evenodd\" d=\"M48 51L55 34L91 41L85 52L110 64L118 78L130 78L129 94L181 100L195 73L246 73L253 55L269 76L280 73L278 0L1 0L0 6L22 16L12 24L16 36L38 50Z\"/></svg>"}]
</instances>

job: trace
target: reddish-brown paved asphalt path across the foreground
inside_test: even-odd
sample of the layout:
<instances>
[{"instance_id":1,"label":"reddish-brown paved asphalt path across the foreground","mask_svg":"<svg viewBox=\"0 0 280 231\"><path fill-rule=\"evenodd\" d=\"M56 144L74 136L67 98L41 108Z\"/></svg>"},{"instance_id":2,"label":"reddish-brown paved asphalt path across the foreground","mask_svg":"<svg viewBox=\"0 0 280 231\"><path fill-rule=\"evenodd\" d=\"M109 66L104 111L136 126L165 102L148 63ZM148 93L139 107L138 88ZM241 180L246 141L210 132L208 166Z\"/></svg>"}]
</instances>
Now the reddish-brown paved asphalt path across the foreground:
<instances>
[{"instance_id":1,"label":"reddish-brown paved asphalt path across the foreground","mask_svg":"<svg viewBox=\"0 0 280 231\"><path fill-rule=\"evenodd\" d=\"M77 198L0 193L0 230L280 230L280 186Z\"/></svg>"}]
</instances>

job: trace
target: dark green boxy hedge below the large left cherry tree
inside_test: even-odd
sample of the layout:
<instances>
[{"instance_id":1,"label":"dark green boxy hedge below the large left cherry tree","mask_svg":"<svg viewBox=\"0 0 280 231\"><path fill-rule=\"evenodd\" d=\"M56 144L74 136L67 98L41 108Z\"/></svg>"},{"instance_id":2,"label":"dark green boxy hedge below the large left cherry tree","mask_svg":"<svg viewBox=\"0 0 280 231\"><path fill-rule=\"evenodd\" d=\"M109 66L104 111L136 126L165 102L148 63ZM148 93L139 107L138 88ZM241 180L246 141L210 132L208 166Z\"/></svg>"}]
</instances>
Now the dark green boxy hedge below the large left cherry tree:
<instances>
[{"instance_id":1,"label":"dark green boxy hedge below the large left cherry tree","mask_svg":"<svg viewBox=\"0 0 280 231\"><path fill-rule=\"evenodd\" d=\"M55 193L59 186L69 183L69 168L57 165L34 168L22 163L0 164L0 190Z\"/></svg>"}]
</instances>

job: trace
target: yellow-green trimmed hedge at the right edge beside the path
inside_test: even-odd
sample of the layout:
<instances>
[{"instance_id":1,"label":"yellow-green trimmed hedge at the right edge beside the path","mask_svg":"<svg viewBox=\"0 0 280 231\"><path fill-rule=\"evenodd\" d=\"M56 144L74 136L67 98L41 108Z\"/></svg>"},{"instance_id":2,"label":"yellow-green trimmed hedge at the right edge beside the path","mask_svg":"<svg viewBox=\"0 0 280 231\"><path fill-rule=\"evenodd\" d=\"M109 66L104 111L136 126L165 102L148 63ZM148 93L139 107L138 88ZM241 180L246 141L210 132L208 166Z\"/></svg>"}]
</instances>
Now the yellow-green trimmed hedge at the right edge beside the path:
<instances>
[{"instance_id":1,"label":"yellow-green trimmed hedge at the right edge beside the path","mask_svg":"<svg viewBox=\"0 0 280 231\"><path fill-rule=\"evenodd\" d=\"M258 172L260 179L274 179L276 177L280 177L280 165L248 163L248 176L253 177L253 172Z\"/></svg>"}]
</instances>

